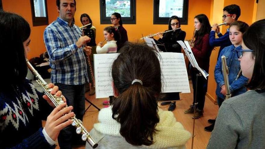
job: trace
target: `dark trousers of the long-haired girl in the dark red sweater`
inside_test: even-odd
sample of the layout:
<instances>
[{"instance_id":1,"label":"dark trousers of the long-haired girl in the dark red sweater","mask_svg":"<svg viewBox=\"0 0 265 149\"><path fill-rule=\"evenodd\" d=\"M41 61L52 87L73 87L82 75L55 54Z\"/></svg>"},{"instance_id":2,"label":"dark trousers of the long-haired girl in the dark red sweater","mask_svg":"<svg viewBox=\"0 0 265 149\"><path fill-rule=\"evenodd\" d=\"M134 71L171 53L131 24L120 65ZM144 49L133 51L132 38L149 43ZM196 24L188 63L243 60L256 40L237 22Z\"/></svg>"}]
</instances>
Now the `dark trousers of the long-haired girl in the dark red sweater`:
<instances>
[{"instance_id":1,"label":"dark trousers of the long-haired girl in the dark red sweater","mask_svg":"<svg viewBox=\"0 0 265 149\"><path fill-rule=\"evenodd\" d=\"M208 81L204 78L204 76L198 76L198 82L196 86L196 79L197 79L198 73L199 73L198 70L194 70L194 68L192 68L191 75L192 75L192 87L193 87L193 105L195 103L195 95L196 95L196 88L197 88L196 102L198 104L196 107L198 107L199 110L203 110Z\"/></svg>"}]
</instances>

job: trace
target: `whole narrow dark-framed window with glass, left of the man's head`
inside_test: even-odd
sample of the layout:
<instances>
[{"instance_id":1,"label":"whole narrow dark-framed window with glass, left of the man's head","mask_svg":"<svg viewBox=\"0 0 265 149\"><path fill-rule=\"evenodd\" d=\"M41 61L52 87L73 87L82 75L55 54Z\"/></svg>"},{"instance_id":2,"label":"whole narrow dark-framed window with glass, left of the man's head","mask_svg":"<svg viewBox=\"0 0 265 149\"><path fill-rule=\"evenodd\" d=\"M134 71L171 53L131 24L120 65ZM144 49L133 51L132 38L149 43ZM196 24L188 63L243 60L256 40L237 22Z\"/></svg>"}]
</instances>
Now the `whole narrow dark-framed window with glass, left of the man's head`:
<instances>
[{"instance_id":1,"label":"whole narrow dark-framed window with glass, left of the man's head","mask_svg":"<svg viewBox=\"0 0 265 149\"><path fill-rule=\"evenodd\" d=\"M30 0L33 26L48 25L46 0Z\"/></svg>"}]
</instances>

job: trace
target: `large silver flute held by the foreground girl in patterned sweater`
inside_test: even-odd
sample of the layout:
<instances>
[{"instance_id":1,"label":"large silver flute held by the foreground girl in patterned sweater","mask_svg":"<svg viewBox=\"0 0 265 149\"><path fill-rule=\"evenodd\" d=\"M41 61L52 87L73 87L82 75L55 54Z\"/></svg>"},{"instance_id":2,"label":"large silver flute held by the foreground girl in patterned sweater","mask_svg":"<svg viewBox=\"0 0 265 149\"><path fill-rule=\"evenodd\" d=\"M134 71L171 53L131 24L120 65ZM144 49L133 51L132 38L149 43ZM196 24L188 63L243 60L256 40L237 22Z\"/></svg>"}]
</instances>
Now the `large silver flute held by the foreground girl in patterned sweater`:
<instances>
[{"instance_id":1,"label":"large silver flute held by the foreground girl in patterned sweater","mask_svg":"<svg viewBox=\"0 0 265 149\"><path fill-rule=\"evenodd\" d=\"M60 104L63 104L63 98L61 98L60 96L55 96L55 95L51 95L51 90L52 88L48 87L47 82L44 81L44 79L41 77L41 75L35 70L35 68L30 64L30 62L26 59L27 62L27 66L29 67L30 71L33 73L34 76L36 76L36 82L39 84L39 86L43 89L45 95L47 95L52 103L57 107ZM89 134L89 132L86 130L86 128L83 126L82 121L78 120L75 117L70 118L71 120L73 120L72 126L76 127L76 133L77 134L83 134L82 135L82 140L83 141L87 141L92 148L96 148L98 147L98 144L95 142L95 140L91 137L91 135Z\"/></svg>"}]
</instances>

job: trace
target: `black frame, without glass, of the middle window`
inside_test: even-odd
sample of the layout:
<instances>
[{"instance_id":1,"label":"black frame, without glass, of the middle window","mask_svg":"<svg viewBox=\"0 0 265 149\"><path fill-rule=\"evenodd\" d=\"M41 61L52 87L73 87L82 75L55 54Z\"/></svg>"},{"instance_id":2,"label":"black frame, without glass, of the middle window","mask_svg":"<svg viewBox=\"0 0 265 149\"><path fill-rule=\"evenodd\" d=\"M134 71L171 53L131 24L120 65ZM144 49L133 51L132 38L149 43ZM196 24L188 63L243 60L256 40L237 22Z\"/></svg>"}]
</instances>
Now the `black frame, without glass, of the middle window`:
<instances>
[{"instance_id":1,"label":"black frame, without glass, of the middle window","mask_svg":"<svg viewBox=\"0 0 265 149\"><path fill-rule=\"evenodd\" d=\"M100 0L100 24L111 24L111 17L106 17L106 1ZM113 12L114 13L114 12ZM130 17L122 17L123 24L136 24L136 0L130 0Z\"/></svg>"}]
</instances>

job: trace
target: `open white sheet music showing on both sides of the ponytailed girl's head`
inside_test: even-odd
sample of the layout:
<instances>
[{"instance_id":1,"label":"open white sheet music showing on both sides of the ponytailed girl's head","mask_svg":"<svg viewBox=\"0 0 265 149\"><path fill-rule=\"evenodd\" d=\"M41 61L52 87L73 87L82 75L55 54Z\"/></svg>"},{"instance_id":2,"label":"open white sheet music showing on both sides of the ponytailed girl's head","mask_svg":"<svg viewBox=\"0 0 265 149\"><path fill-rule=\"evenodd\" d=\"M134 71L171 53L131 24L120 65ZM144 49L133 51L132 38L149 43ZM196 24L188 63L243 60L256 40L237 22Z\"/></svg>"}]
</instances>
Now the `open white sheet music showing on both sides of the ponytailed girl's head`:
<instances>
[{"instance_id":1,"label":"open white sheet music showing on both sides of the ponytailed girl's head","mask_svg":"<svg viewBox=\"0 0 265 149\"><path fill-rule=\"evenodd\" d=\"M96 98L113 96L111 66L119 53L94 54ZM190 93L188 73L182 53L157 53L161 65L162 92Z\"/></svg>"}]
</instances>

